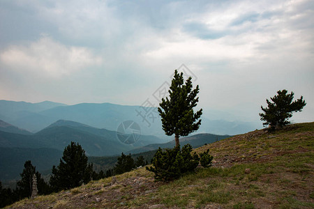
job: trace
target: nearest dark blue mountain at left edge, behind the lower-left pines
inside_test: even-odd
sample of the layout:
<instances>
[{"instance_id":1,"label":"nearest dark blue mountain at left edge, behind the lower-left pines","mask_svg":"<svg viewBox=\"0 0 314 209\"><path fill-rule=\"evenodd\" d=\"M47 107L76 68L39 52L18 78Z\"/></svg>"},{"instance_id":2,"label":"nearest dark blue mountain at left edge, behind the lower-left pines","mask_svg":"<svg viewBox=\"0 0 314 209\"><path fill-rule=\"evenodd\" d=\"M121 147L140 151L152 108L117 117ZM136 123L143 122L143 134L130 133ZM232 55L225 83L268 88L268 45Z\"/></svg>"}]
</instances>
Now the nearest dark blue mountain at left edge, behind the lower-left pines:
<instances>
[{"instance_id":1,"label":"nearest dark blue mountain at left edge, behind the lower-left pines","mask_svg":"<svg viewBox=\"0 0 314 209\"><path fill-rule=\"evenodd\" d=\"M3 148L0 147L0 180L20 179L24 162L31 160L36 170L43 172L51 170L59 164L62 151L52 148Z\"/></svg>"}]
</instances>

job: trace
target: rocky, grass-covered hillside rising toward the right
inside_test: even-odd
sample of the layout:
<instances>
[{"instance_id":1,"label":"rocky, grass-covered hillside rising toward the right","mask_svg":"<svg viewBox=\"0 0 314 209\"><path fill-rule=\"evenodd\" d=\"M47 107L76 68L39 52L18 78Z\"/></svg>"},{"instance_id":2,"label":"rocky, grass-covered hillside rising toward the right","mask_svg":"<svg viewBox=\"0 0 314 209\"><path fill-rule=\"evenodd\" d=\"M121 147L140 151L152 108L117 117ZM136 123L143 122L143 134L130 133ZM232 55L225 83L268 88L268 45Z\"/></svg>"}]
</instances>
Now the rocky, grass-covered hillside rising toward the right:
<instances>
[{"instance_id":1,"label":"rocky, grass-covered hillside rising toward the right","mask_svg":"<svg viewBox=\"0 0 314 209\"><path fill-rule=\"evenodd\" d=\"M137 169L82 187L15 203L13 208L313 208L314 123L223 139L209 148L213 167L172 183ZM245 169L251 169L245 173Z\"/></svg>"}]
</instances>

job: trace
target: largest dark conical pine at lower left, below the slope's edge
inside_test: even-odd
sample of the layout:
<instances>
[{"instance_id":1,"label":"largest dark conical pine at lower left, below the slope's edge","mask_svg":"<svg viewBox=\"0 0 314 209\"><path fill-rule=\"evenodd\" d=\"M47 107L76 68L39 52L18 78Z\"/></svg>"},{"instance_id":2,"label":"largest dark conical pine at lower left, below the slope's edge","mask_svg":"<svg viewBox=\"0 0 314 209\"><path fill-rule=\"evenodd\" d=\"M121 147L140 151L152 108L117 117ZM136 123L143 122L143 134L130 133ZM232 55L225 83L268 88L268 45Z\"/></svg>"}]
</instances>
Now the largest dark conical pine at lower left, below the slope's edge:
<instances>
[{"instance_id":1,"label":"largest dark conical pine at lower left, below the slope's edge","mask_svg":"<svg viewBox=\"0 0 314 209\"><path fill-rule=\"evenodd\" d=\"M91 180L93 164L87 163L87 156L80 144L71 141L63 151L58 167L52 167L50 185L54 191L79 187Z\"/></svg>"}]
</instances>

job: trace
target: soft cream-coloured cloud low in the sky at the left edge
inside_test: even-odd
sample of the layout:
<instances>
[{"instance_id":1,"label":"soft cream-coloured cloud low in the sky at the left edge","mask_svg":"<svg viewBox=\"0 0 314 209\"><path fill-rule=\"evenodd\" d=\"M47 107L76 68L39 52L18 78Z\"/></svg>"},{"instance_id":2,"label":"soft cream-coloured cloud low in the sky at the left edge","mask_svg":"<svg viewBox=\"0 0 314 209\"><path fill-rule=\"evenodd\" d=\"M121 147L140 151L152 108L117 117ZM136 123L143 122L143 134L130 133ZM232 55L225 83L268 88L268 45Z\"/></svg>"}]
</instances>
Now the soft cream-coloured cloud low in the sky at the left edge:
<instances>
[{"instance_id":1,"label":"soft cream-coloured cloud low in the sky at the left edge","mask_svg":"<svg viewBox=\"0 0 314 209\"><path fill-rule=\"evenodd\" d=\"M95 56L85 47L62 45L48 36L26 46L10 46L1 52L0 59L11 70L54 78L70 75L102 62L99 56Z\"/></svg>"}]
</instances>

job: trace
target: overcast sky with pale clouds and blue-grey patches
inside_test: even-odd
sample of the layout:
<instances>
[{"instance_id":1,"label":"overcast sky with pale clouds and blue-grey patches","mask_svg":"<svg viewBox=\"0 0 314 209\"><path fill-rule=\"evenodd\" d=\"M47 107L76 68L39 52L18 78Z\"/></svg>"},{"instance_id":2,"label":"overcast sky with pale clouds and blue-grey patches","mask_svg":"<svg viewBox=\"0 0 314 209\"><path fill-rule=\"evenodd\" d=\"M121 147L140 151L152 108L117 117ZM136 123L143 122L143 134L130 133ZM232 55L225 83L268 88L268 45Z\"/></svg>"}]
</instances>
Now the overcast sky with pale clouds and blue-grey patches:
<instances>
[{"instance_id":1,"label":"overcast sky with pale clouds and blue-grey patches","mask_svg":"<svg viewBox=\"0 0 314 209\"><path fill-rule=\"evenodd\" d=\"M183 66L209 118L258 121L287 89L314 121L313 17L311 0L1 0L0 99L158 106Z\"/></svg>"}]
</instances>

